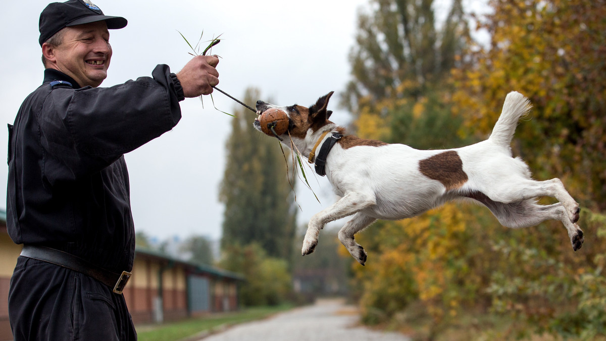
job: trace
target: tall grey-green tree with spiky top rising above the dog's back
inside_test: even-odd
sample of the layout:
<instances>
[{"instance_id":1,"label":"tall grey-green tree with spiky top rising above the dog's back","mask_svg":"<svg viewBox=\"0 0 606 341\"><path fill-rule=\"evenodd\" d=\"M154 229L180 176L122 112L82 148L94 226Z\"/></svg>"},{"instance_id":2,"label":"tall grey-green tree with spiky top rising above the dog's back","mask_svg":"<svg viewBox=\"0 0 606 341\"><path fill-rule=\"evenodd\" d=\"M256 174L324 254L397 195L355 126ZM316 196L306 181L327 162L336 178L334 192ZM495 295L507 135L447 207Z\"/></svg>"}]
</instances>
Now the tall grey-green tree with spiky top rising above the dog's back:
<instances>
[{"instance_id":1,"label":"tall grey-green tree with spiky top rising above the dog's back","mask_svg":"<svg viewBox=\"0 0 606 341\"><path fill-rule=\"evenodd\" d=\"M441 28L432 0L372 4L371 15L359 15L353 79L342 94L358 134L416 148L457 147L461 118L450 111L450 72L468 36L461 0Z\"/></svg>"}]
</instances>

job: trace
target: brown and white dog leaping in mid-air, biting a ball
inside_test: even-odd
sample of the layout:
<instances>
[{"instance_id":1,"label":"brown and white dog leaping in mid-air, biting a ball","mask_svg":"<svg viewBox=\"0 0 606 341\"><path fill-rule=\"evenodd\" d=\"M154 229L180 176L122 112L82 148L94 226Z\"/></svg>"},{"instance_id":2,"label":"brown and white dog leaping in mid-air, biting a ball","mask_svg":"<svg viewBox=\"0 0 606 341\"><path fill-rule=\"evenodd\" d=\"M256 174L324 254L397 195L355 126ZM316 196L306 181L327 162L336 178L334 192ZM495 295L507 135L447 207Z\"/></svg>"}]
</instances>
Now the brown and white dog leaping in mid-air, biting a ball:
<instances>
[{"instance_id":1,"label":"brown and white dog leaping in mid-air, biting a ball","mask_svg":"<svg viewBox=\"0 0 606 341\"><path fill-rule=\"evenodd\" d=\"M560 220L568 230L573 250L581 248L583 231L576 224L579 204L559 179L533 180L528 166L511 155L511 138L518 120L530 110L530 102L522 94L507 95L501 117L487 140L449 150L416 150L407 145L346 136L344 128L328 121L331 111L327 105L332 94L319 98L309 108L279 107L262 101L256 104L258 114L269 108L287 113L288 131L280 137L290 137L301 154L310 155L316 171L326 174L341 197L311 217L302 247L304 256L313 252L326 223L352 216L339 231L339 240L364 265L366 251L353 237L358 231L377 219L418 216L454 199L484 205L505 227L530 227L548 219ZM258 119L255 128L261 130ZM555 197L559 202L539 205L536 198L542 196Z\"/></svg>"}]
</instances>

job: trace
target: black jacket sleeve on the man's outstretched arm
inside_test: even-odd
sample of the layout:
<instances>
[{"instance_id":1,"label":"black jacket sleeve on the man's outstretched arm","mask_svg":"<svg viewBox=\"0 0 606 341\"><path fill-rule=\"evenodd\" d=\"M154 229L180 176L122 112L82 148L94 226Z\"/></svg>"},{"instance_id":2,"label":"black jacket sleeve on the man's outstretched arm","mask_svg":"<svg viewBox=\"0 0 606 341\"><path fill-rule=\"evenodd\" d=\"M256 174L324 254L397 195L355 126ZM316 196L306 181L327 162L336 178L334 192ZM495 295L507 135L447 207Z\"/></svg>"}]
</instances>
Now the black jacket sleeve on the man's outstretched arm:
<instances>
[{"instance_id":1,"label":"black jacket sleeve on the man's outstretched arm","mask_svg":"<svg viewBox=\"0 0 606 341\"><path fill-rule=\"evenodd\" d=\"M51 91L38 118L48 180L99 171L171 130L181 119L180 86L167 65L158 65L151 78L110 88Z\"/></svg>"}]
</instances>

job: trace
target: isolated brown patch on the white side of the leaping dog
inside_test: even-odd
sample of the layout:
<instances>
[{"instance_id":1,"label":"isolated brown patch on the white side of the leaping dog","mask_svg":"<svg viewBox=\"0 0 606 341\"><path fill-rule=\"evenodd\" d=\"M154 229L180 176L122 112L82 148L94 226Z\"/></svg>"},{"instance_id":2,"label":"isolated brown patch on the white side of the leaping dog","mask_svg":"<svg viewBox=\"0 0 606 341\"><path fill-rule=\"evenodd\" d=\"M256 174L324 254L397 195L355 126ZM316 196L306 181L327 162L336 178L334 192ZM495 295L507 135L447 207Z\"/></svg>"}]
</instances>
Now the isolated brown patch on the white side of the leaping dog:
<instances>
[{"instance_id":1,"label":"isolated brown patch on the white side of the leaping dog","mask_svg":"<svg viewBox=\"0 0 606 341\"><path fill-rule=\"evenodd\" d=\"M461 187L467 182L467 174L463 171L463 162L459 154L454 151L445 151L419 162L419 171L430 179L438 180L446 187L453 190Z\"/></svg>"}]
</instances>

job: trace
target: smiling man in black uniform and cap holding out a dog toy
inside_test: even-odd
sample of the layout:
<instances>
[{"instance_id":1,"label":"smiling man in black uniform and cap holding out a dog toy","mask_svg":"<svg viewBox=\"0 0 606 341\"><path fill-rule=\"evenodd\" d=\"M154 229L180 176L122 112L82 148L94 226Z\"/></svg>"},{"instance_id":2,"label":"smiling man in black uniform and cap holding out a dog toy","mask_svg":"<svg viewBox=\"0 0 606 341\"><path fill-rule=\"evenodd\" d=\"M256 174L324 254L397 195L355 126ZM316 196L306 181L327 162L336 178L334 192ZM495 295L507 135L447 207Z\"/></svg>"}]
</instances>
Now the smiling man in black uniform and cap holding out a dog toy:
<instances>
[{"instance_id":1,"label":"smiling man in black uniform and cap holding out a dog toy","mask_svg":"<svg viewBox=\"0 0 606 341\"><path fill-rule=\"evenodd\" d=\"M179 101L210 94L219 60L100 88L108 29L126 25L88 0L40 15L44 82L8 138L8 233L24 244L8 297L15 340L136 340L121 294L135 253L123 155L171 130Z\"/></svg>"}]
</instances>

